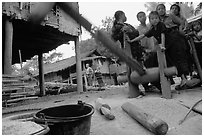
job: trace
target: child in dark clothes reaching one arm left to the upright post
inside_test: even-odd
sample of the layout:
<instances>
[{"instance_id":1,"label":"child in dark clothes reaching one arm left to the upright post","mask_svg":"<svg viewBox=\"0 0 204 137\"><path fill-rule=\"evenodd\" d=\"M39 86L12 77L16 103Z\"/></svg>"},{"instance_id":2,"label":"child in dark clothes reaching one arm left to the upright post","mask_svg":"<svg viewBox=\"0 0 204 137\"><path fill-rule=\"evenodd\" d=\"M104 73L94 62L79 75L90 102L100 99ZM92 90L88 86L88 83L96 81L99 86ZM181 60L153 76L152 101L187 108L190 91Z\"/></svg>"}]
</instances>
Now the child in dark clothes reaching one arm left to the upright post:
<instances>
[{"instance_id":1,"label":"child in dark clothes reaching one arm left to the upright post","mask_svg":"<svg viewBox=\"0 0 204 137\"><path fill-rule=\"evenodd\" d=\"M145 36L153 36L157 40L160 48L163 51L166 49L165 54L167 54L172 59L173 65L177 67L178 75L182 78L179 88L186 87L186 75L189 74L189 67L187 62L187 55L183 49L183 44L185 44L185 41L182 41L182 39L179 39L171 35L171 33L168 33L168 29L166 28L165 24L160 21L158 12L152 11L149 14L149 21L152 25L151 29L145 34L142 34L130 40L129 42L138 41Z\"/></svg>"}]
</instances>

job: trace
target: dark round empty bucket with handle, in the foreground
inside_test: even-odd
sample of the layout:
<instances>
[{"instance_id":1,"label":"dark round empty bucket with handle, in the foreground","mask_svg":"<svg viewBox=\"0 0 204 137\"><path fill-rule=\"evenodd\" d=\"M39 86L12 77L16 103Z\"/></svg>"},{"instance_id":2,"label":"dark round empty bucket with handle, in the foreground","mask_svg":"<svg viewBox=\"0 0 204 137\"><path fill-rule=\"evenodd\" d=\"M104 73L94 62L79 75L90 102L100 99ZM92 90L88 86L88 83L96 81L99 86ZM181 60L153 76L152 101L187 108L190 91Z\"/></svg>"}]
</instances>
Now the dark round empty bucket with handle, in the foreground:
<instances>
[{"instance_id":1,"label":"dark round empty bucket with handle, in the foreground","mask_svg":"<svg viewBox=\"0 0 204 137\"><path fill-rule=\"evenodd\" d=\"M34 115L36 123L49 126L49 135L89 135L92 105L78 101L78 104L50 107Z\"/></svg>"}]
</instances>

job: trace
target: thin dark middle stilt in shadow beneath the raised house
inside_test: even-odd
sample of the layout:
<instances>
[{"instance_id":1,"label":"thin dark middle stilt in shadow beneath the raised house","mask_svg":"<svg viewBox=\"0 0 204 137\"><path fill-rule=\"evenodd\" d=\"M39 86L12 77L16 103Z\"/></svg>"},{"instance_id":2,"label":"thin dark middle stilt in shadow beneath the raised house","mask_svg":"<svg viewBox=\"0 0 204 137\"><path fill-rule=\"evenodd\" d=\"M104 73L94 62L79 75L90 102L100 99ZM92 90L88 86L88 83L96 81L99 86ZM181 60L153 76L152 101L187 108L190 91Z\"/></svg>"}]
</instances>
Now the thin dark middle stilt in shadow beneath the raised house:
<instances>
[{"instance_id":1,"label":"thin dark middle stilt in shadow beneath the raised house","mask_svg":"<svg viewBox=\"0 0 204 137\"><path fill-rule=\"evenodd\" d=\"M40 96L45 96L44 87L44 70L43 70L43 53L38 54L38 64L39 64L39 86L40 86Z\"/></svg>"}]
</instances>

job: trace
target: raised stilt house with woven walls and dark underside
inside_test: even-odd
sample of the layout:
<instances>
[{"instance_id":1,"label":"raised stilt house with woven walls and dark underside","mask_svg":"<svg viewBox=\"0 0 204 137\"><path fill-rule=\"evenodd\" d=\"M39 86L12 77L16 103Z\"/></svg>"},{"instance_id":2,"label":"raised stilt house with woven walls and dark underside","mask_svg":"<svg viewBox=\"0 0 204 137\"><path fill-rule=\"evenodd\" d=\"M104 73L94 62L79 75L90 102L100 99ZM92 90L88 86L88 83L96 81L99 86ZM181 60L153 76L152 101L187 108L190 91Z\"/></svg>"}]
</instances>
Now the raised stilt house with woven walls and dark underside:
<instances>
[{"instance_id":1,"label":"raised stilt house with woven walls and dark underside","mask_svg":"<svg viewBox=\"0 0 204 137\"><path fill-rule=\"evenodd\" d=\"M54 3L2 2L2 74L11 75L13 64L22 64L38 55L39 87L42 96L45 95L42 54L69 41L74 41L77 48L81 32L80 25L57 4L53 5L39 23L34 23L36 12L39 12L41 7L46 9L49 4ZM78 2L70 2L68 5L79 13ZM82 83L78 85L82 90Z\"/></svg>"}]
</instances>

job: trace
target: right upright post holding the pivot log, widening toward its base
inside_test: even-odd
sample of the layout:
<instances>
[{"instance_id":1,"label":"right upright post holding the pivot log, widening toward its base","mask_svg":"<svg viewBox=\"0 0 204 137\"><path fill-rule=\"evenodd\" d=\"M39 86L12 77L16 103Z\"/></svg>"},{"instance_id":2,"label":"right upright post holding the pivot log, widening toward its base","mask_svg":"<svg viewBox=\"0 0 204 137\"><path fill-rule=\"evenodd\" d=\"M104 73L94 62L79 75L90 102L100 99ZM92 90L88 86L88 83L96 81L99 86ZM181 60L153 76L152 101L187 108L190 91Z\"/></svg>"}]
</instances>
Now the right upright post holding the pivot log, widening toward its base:
<instances>
[{"instance_id":1,"label":"right upright post holding the pivot log, widening toward its base","mask_svg":"<svg viewBox=\"0 0 204 137\"><path fill-rule=\"evenodd\" d=\"M159 45L157 45L157 59L158 59L158 64L159 64L159 75L160 75L162 97L166 99L170 99L171 98L171 85L167 77L164 74L164 69L167 67L166 56L165 56L165 52L161 50Z\"/></svg>"}]
</instances>

